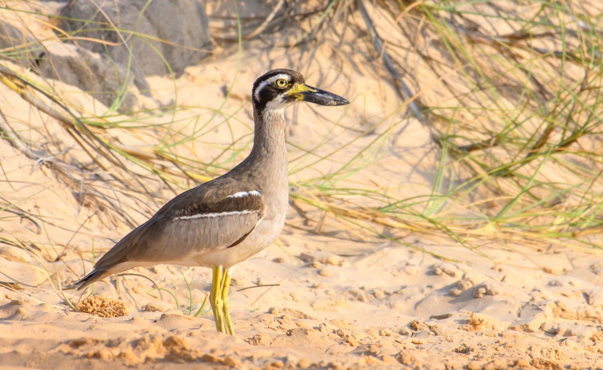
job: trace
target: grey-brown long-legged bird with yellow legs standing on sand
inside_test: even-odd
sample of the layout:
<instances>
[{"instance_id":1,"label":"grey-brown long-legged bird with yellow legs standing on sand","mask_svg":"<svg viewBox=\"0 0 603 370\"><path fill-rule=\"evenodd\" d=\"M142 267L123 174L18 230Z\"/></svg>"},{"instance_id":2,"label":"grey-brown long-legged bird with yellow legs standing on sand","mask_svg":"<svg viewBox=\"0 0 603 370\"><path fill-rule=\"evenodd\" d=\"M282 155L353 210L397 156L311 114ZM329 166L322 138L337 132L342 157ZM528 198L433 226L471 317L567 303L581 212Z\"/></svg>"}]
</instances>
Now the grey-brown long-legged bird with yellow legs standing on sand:
<instances>
[{"instance_id":1,"label":"grey-brown long-legged bird with yellow legs standing on sand","mask_svg":"<svg viewBox=\"0 0 603 370\"><path fill-rule=\"evenodd\" d=\"M251 89L253 146L229 172L175 196L117 242L74 284L82 290L137 266L171 264L212 269L209 302L216 330L234 336L229 286L234 266L276 240L289 205L285 108L297 102L346 105L308 86L291 69L273 69Z\"/></svg>"}]
</instances>

